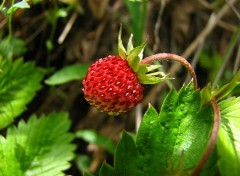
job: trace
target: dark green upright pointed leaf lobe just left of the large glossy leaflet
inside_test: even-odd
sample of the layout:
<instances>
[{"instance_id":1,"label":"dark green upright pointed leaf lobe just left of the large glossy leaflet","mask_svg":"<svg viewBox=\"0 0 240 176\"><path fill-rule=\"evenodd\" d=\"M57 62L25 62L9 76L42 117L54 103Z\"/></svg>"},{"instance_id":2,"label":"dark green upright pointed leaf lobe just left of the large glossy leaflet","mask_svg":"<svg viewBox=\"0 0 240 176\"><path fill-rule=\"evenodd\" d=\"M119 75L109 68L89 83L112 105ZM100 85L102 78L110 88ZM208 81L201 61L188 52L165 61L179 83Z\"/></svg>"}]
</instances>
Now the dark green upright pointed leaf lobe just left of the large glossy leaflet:
<instances>
[{"instance_id":1,"label":"dark green upright pointed leaf lobe just left of the large glossy leaflet","mask_svg":"<svg viewBox=\"0 0 240 176\"><path fill-rule=\"evenodd\" d=\"M140 168L144 175L162 175L165 165L163 165L163 149L157 111L149 106L145 113L137 134L137 148L140 157Z\"/></svg>"}]
</instances>

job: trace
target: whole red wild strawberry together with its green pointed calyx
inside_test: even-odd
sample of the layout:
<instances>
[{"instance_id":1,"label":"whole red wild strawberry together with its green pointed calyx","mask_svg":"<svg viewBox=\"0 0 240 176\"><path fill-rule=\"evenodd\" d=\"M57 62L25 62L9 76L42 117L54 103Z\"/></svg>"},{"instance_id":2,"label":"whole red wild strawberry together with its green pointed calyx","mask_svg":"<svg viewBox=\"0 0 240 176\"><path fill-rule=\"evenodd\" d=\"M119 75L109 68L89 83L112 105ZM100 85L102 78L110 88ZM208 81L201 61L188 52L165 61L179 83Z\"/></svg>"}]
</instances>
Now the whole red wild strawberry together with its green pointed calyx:
<instances>
[{"instance_id":1,"label":"whole red wild strawberry together with its green pointed calyx","mask_svg":"<svg viewBox=\"0 0 240 176\"><path fill-rule=\"evenodd\" d=\"M83 80L85 99L102 112L118 115L131 110L143 98L143 84L156 84L162 79L147 72L159 68L139 64L145 43L133 48L130 37L127 51L118 38L120 56L108 56L92 64Z\"/></svg>"}]
</instances>

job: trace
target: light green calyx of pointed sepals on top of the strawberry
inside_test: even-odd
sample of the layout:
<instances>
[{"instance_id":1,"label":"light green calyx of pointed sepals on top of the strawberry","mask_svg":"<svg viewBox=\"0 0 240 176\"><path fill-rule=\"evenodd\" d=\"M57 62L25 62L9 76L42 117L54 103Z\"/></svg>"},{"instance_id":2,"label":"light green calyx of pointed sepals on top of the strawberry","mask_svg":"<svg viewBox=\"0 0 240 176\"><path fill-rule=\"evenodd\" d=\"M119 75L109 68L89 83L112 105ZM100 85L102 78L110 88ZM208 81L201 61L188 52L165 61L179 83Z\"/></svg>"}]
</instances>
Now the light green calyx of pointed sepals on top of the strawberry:
<instances>
[{"instance_id":1,"label":"light green calyx of pointed sepals on top of the strawberry","mask_svg":"<svg viewBox=\"0 0 240 176\"><path fill-rule=\"evenodd\" d=\"M127 49L123 46L121 39L122 27L120 27L118 34L118 53L119 56L126 60L129 67L135 72L138 80L142 84L158 84L167 78L164 72L159 71L161 65L140 64L143 59L143 51L146 46L146 42L134 47L131 34L127 44ZM161 77L159 77L159 75Z\"/></svg>"}]
</instances>

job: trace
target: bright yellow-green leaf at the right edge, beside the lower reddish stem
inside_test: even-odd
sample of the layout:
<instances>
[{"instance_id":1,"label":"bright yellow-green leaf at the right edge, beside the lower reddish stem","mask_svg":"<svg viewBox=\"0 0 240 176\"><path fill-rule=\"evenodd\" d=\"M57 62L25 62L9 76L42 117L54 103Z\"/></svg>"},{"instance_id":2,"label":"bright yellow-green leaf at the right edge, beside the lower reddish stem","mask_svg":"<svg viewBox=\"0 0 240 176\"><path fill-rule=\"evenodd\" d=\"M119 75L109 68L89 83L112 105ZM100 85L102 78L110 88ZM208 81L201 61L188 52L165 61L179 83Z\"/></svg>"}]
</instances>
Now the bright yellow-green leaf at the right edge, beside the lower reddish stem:
<instances>
[{"instance_id":1,"label":"bright yellow-green leaf at the right edge, beside the lower reddish stem","mask_svg":"<svg viewBox=\"0 0 240 176\"><path fill-rule=\"evenodd\" d=\"M232 97L219 103L221 127L217 148L220 155L219 170L223 176L240 173L240 97Z\"/></svg>"}]
</instances>

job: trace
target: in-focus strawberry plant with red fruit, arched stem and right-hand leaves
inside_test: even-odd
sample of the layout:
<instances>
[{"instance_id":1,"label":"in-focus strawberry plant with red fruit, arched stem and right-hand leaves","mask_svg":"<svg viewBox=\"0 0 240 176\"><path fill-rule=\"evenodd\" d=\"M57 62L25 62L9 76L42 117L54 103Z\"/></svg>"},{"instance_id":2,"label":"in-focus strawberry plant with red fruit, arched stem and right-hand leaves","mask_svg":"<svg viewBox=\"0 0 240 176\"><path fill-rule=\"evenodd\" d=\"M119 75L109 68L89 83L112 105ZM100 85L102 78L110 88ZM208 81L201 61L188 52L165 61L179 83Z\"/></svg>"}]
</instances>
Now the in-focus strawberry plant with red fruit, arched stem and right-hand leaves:
<instances>
[{"instance_id":1,"label":"in-focus strawberry plant with red fruit, arched stem and right-hand leaves","mask_svg":"<svg viewBox=\"0 0 240 176\"><path fill-rule=\"evenodd\" d=\"M200 90L184 58L160 53L142 59L145 44L134 48L131 39L126 50L120 30L119 56L102 58L90 66L83 87L91 105L110 115L129 111L141 102L144 84L168 78L154 72L158 66L151 63L156 60L180 62L192 81L179 91L172 89L159 112L149 105L137 134L123 132L114 165L104 163L99 175L238 175L240 99L224 98L239 85L240 72L222 88L212 90L208 84ZM228 158L233 165L227 163Z\"/></svg>"}]
</instances>

